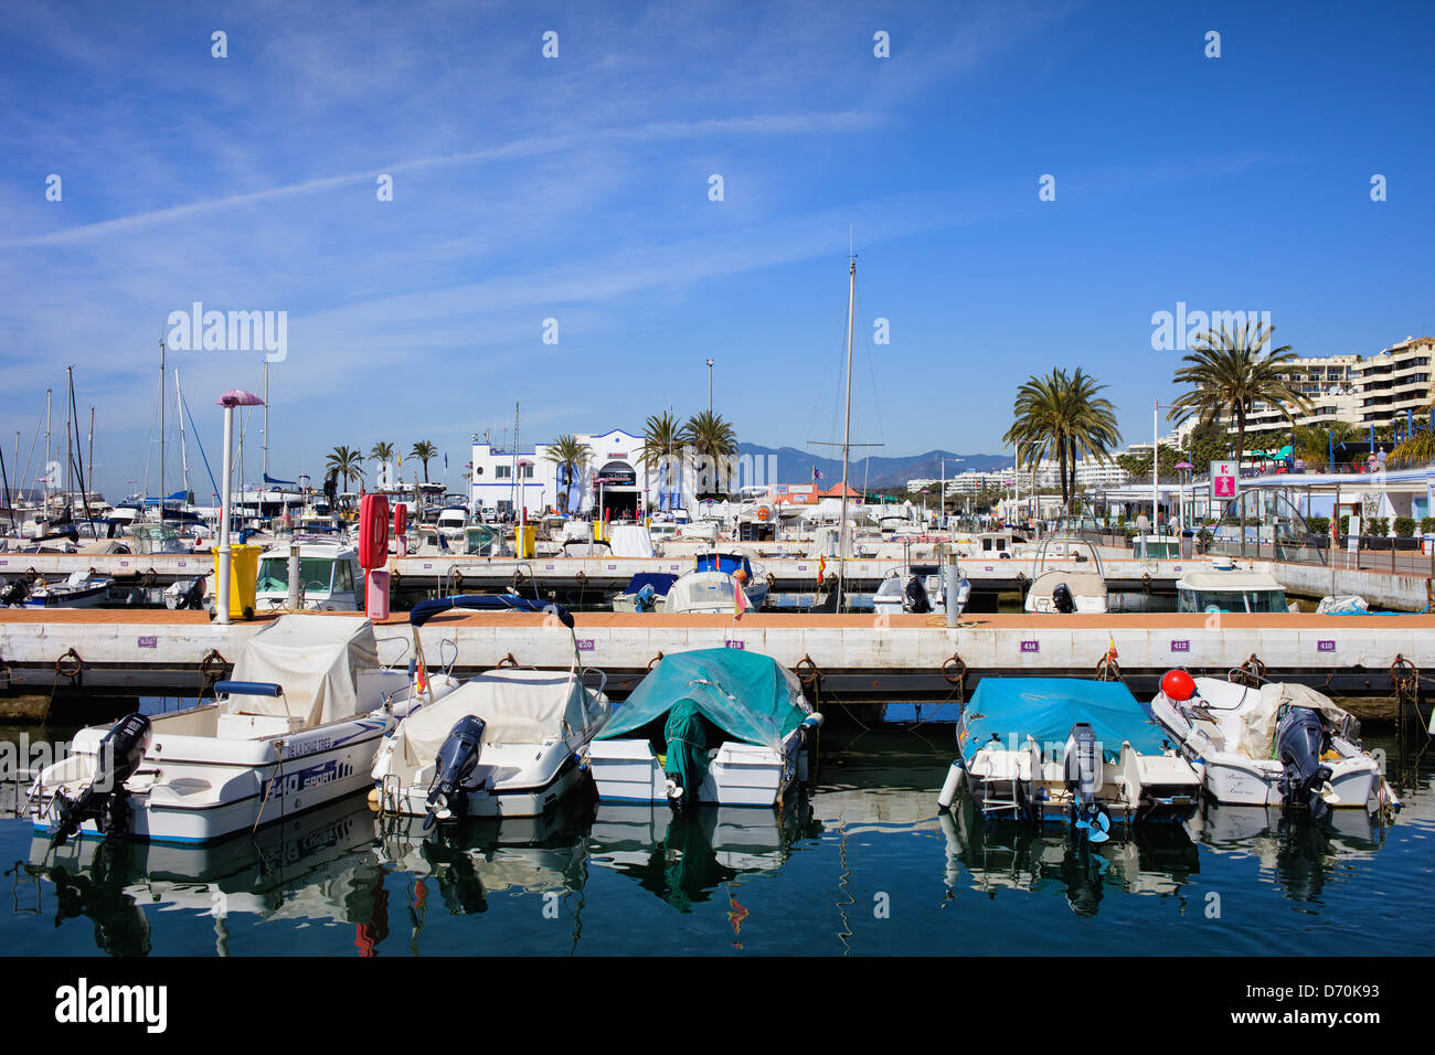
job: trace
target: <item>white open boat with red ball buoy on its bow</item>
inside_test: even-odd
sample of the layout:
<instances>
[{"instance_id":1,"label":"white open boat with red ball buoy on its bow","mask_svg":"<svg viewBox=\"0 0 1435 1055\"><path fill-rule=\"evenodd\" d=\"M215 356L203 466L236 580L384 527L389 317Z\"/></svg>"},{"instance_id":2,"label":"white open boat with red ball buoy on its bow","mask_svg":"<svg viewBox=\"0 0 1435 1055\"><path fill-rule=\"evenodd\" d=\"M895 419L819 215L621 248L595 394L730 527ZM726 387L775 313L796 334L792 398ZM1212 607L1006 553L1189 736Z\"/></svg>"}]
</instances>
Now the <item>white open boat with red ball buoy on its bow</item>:
<instances>
[{"instance_id":1,"label":"white open boat with red ball buoy on its bow","mask_svg":"<svg viewBox=\"0 0 1435 1055\"><path fill-rule=\"evenodd\" d=\"M1304 685L1248 688L1171 672L1151 712L1218 802L1310 808L1314 795L1327 807L1396 805L1379 764L1360 746L1359 722ZM1319 725L1313 758L1304 758L1303 731L1287 725L1302 718ZM1302 762L1310 772L1300 772ZM1323 779L1316 781L1317 771Z\"/></svg>"}]
</instances>

